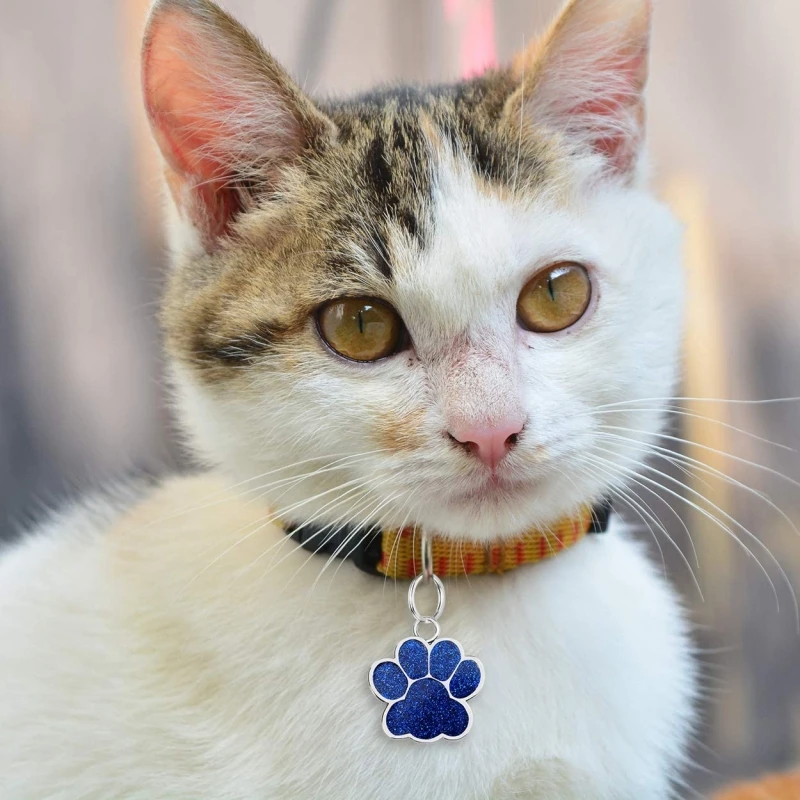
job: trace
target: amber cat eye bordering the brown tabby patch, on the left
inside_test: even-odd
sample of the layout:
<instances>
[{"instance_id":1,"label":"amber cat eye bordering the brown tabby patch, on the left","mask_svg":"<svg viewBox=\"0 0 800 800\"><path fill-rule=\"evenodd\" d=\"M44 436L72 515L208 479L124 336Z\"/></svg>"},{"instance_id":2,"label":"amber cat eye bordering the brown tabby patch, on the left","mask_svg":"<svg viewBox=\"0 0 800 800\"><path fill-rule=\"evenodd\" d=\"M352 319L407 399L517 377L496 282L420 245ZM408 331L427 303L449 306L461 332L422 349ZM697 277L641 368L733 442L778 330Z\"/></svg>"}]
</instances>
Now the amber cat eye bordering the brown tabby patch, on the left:
<instances>
[{"instance_id":1,"label":"amber cat eye bordering the brown tabby patch, on the left","mask_svg":"<svg viewBox=\"0 0 800 800\"><path fill-rule=\"evenodd\" d=\"M402 349L405 327L386 303L364 297L345 297L324 305L317 328L327 345L351 361L378 361Z\"/></svg>"}]
</instances>

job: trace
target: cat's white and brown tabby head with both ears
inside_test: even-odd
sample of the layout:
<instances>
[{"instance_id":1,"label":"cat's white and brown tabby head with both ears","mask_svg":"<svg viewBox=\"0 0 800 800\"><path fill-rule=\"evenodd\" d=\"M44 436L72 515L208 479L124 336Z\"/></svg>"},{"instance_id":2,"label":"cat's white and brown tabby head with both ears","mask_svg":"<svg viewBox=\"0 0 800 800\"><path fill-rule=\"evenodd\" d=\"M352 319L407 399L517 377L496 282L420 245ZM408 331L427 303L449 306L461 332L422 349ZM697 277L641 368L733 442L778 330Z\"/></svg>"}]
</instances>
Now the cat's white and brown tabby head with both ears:
<instances>
[{"instance_id":1,"label":"cat's white and brown tabby head with both ears","mask_svg":"<svg viewBox=\"0 0 800 800\"><path fill-rule=\"evenodd\" d=\"M681 336L650 16L573 0L505 69L315 102L210 0L159 0L163 322L199 452L287 521L478 539L624 485Z\"/></svg>"}]
</instances>

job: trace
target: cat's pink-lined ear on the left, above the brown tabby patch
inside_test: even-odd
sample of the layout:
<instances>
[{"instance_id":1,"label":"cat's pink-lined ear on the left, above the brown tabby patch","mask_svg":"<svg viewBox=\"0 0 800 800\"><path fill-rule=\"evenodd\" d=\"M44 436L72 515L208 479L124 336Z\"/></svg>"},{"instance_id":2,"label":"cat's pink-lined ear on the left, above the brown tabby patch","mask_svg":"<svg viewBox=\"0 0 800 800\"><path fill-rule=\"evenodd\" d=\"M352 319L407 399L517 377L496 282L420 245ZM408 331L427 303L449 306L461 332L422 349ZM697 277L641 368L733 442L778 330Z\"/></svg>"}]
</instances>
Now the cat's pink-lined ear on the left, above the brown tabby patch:
<instances>
[{"instance_id":1,"label":"cat's pink-lined ear on the left, above the brown tabby patch","mask_svg":"<svg viewBox=\"0 0 800 800\"><path fill-rule=\"evenodd\" d=\"M211 0L157 0L142 51L145 107L179 214L212 250L237 213L335 126Z\"/></svg>"}]
</instances>

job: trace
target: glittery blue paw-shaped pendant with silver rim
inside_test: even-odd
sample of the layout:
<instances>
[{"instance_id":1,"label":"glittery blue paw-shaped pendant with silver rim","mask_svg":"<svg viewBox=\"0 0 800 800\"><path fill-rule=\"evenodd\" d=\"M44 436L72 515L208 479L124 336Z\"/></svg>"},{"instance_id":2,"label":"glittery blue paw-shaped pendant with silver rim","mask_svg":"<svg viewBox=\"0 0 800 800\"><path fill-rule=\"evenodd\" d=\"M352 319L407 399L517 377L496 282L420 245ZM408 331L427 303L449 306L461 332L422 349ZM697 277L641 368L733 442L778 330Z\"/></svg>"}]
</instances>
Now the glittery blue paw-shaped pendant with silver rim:
<instances>
[{"instance_id":1,"label":"glittery blue paw-shaped pendant with silver rim","mask_svg":"<svg viewBox=\"0 0 800 800\"><path fill-rule=\"evenodd\" d=\"M391 661L376 661L369 673L372 691L389 705L383 730L394 739L435 742L460 739L472 727L467 700L483 686L483 665L464 658L452 639L428 644L405 639Z\"/></svg>"}]
</instances>

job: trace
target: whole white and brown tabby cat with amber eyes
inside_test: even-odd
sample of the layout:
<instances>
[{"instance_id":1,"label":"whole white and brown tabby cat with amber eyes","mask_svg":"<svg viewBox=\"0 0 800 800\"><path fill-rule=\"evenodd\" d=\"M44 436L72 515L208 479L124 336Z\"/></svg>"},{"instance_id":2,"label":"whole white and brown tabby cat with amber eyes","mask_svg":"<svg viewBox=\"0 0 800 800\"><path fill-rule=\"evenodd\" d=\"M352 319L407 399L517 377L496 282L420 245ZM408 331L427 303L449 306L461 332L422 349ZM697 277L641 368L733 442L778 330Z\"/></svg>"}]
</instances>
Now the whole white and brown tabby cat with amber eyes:
<instances>
[{"instance_id":1,"label":"whole white and brown tabby cat with amber eyes","mask_svg":"<svg viewBox=\"0 0 800 800\"><path fill-rule=\"evenodd\" d=\"M381 729L369 669L411 635L408 583L334 557L370 531L561 545L542 531L658 436L683 278L648 188L651 17L571 0L506 68L318 101L211 0L157 0L162 320L203 466L4 552L3 800L676 796L690 626L616 514L444 581L443 636L485 673L459 741Z\"/></svg>"}]
</instances>

